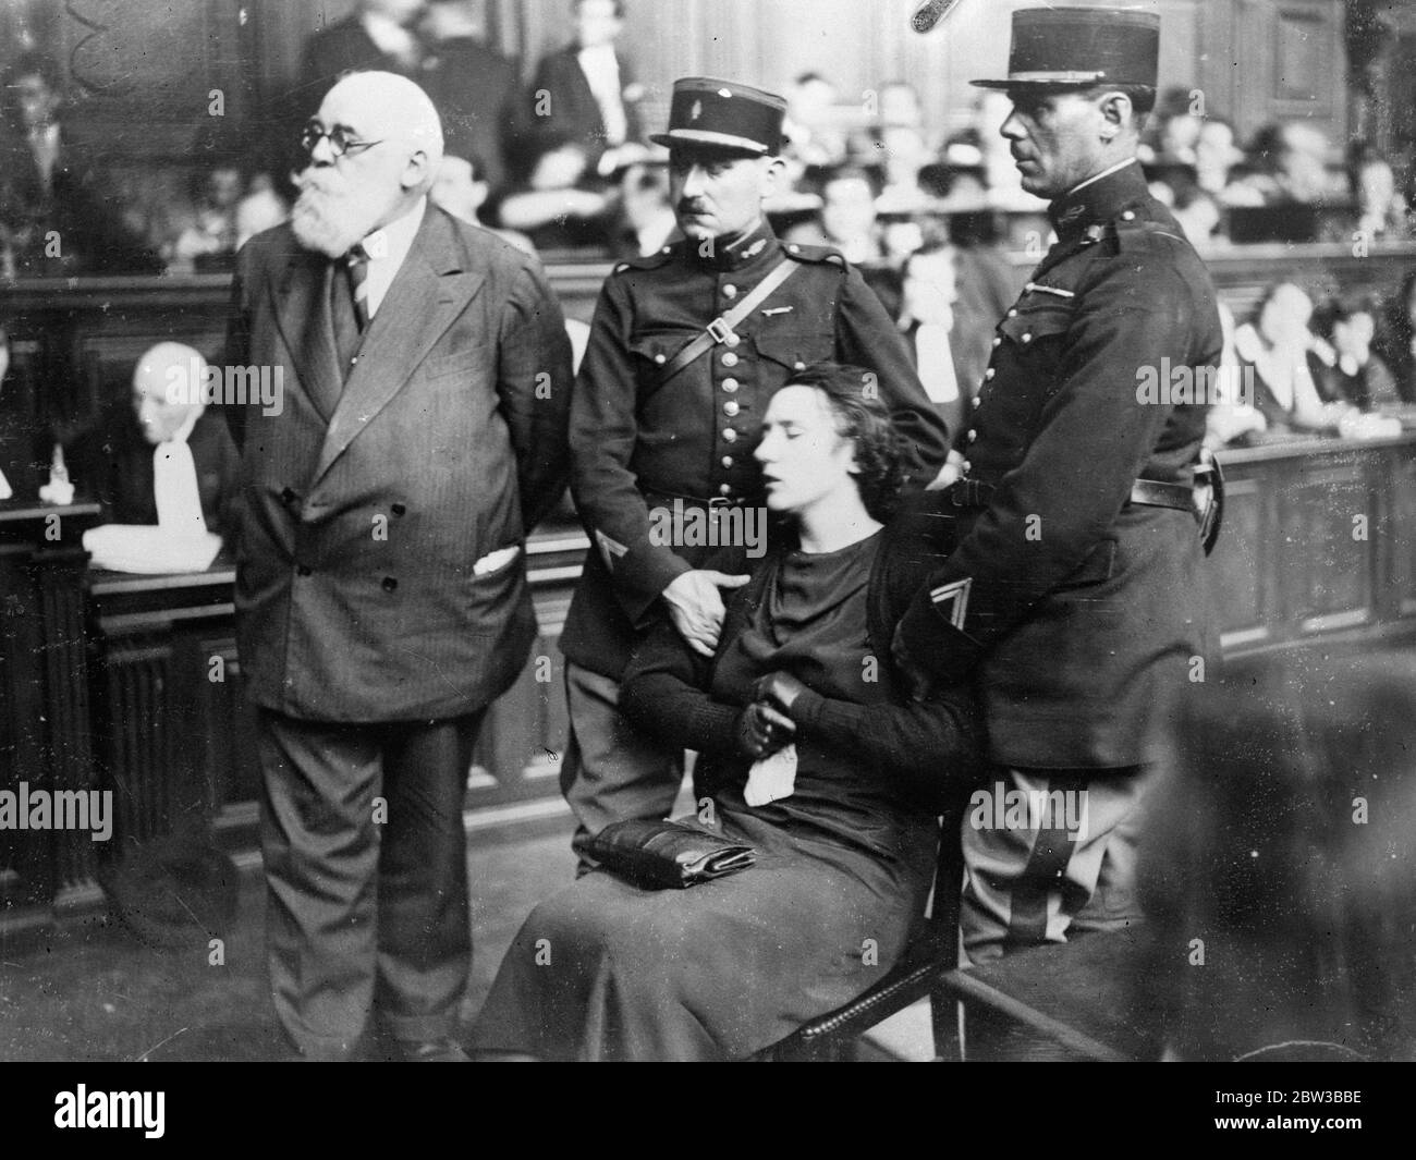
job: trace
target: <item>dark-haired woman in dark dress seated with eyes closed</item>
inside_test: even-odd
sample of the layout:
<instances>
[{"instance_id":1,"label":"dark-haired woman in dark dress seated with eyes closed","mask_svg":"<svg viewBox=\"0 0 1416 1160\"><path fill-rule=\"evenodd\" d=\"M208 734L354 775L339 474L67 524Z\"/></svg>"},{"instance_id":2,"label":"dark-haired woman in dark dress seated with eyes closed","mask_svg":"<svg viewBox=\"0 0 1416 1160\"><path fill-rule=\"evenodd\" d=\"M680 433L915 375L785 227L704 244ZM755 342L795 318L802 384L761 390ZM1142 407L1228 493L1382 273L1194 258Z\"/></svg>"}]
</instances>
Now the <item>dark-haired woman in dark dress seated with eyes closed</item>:
<instances>
[{"instance_id":1,"label":"dark-haired woman in dark dress seated with eyes closed","mask_svg":"<svg viewBox=\"0 0 1416 1160\"><path fill-rule=\"evenodd\" d=\"M936 814L981 745L961 691L910 700L891 636L929 557L864 371L809 367L772 398L755 455L787 517L728 603L714 657L666 620L622 693L643 729L697 749L698 821L758 851L685 891L600 868L532 911L474 1047L573 1059L742 1058L865 991L923 915ZM762 555L756 552L756 555ZM738 547L708 567L745 571ZM782 796L767 763L794 765ZM792 782L790 775L786 776ZM749 804L758 802L762 804Z\"/></svg>"}]
</instances>

